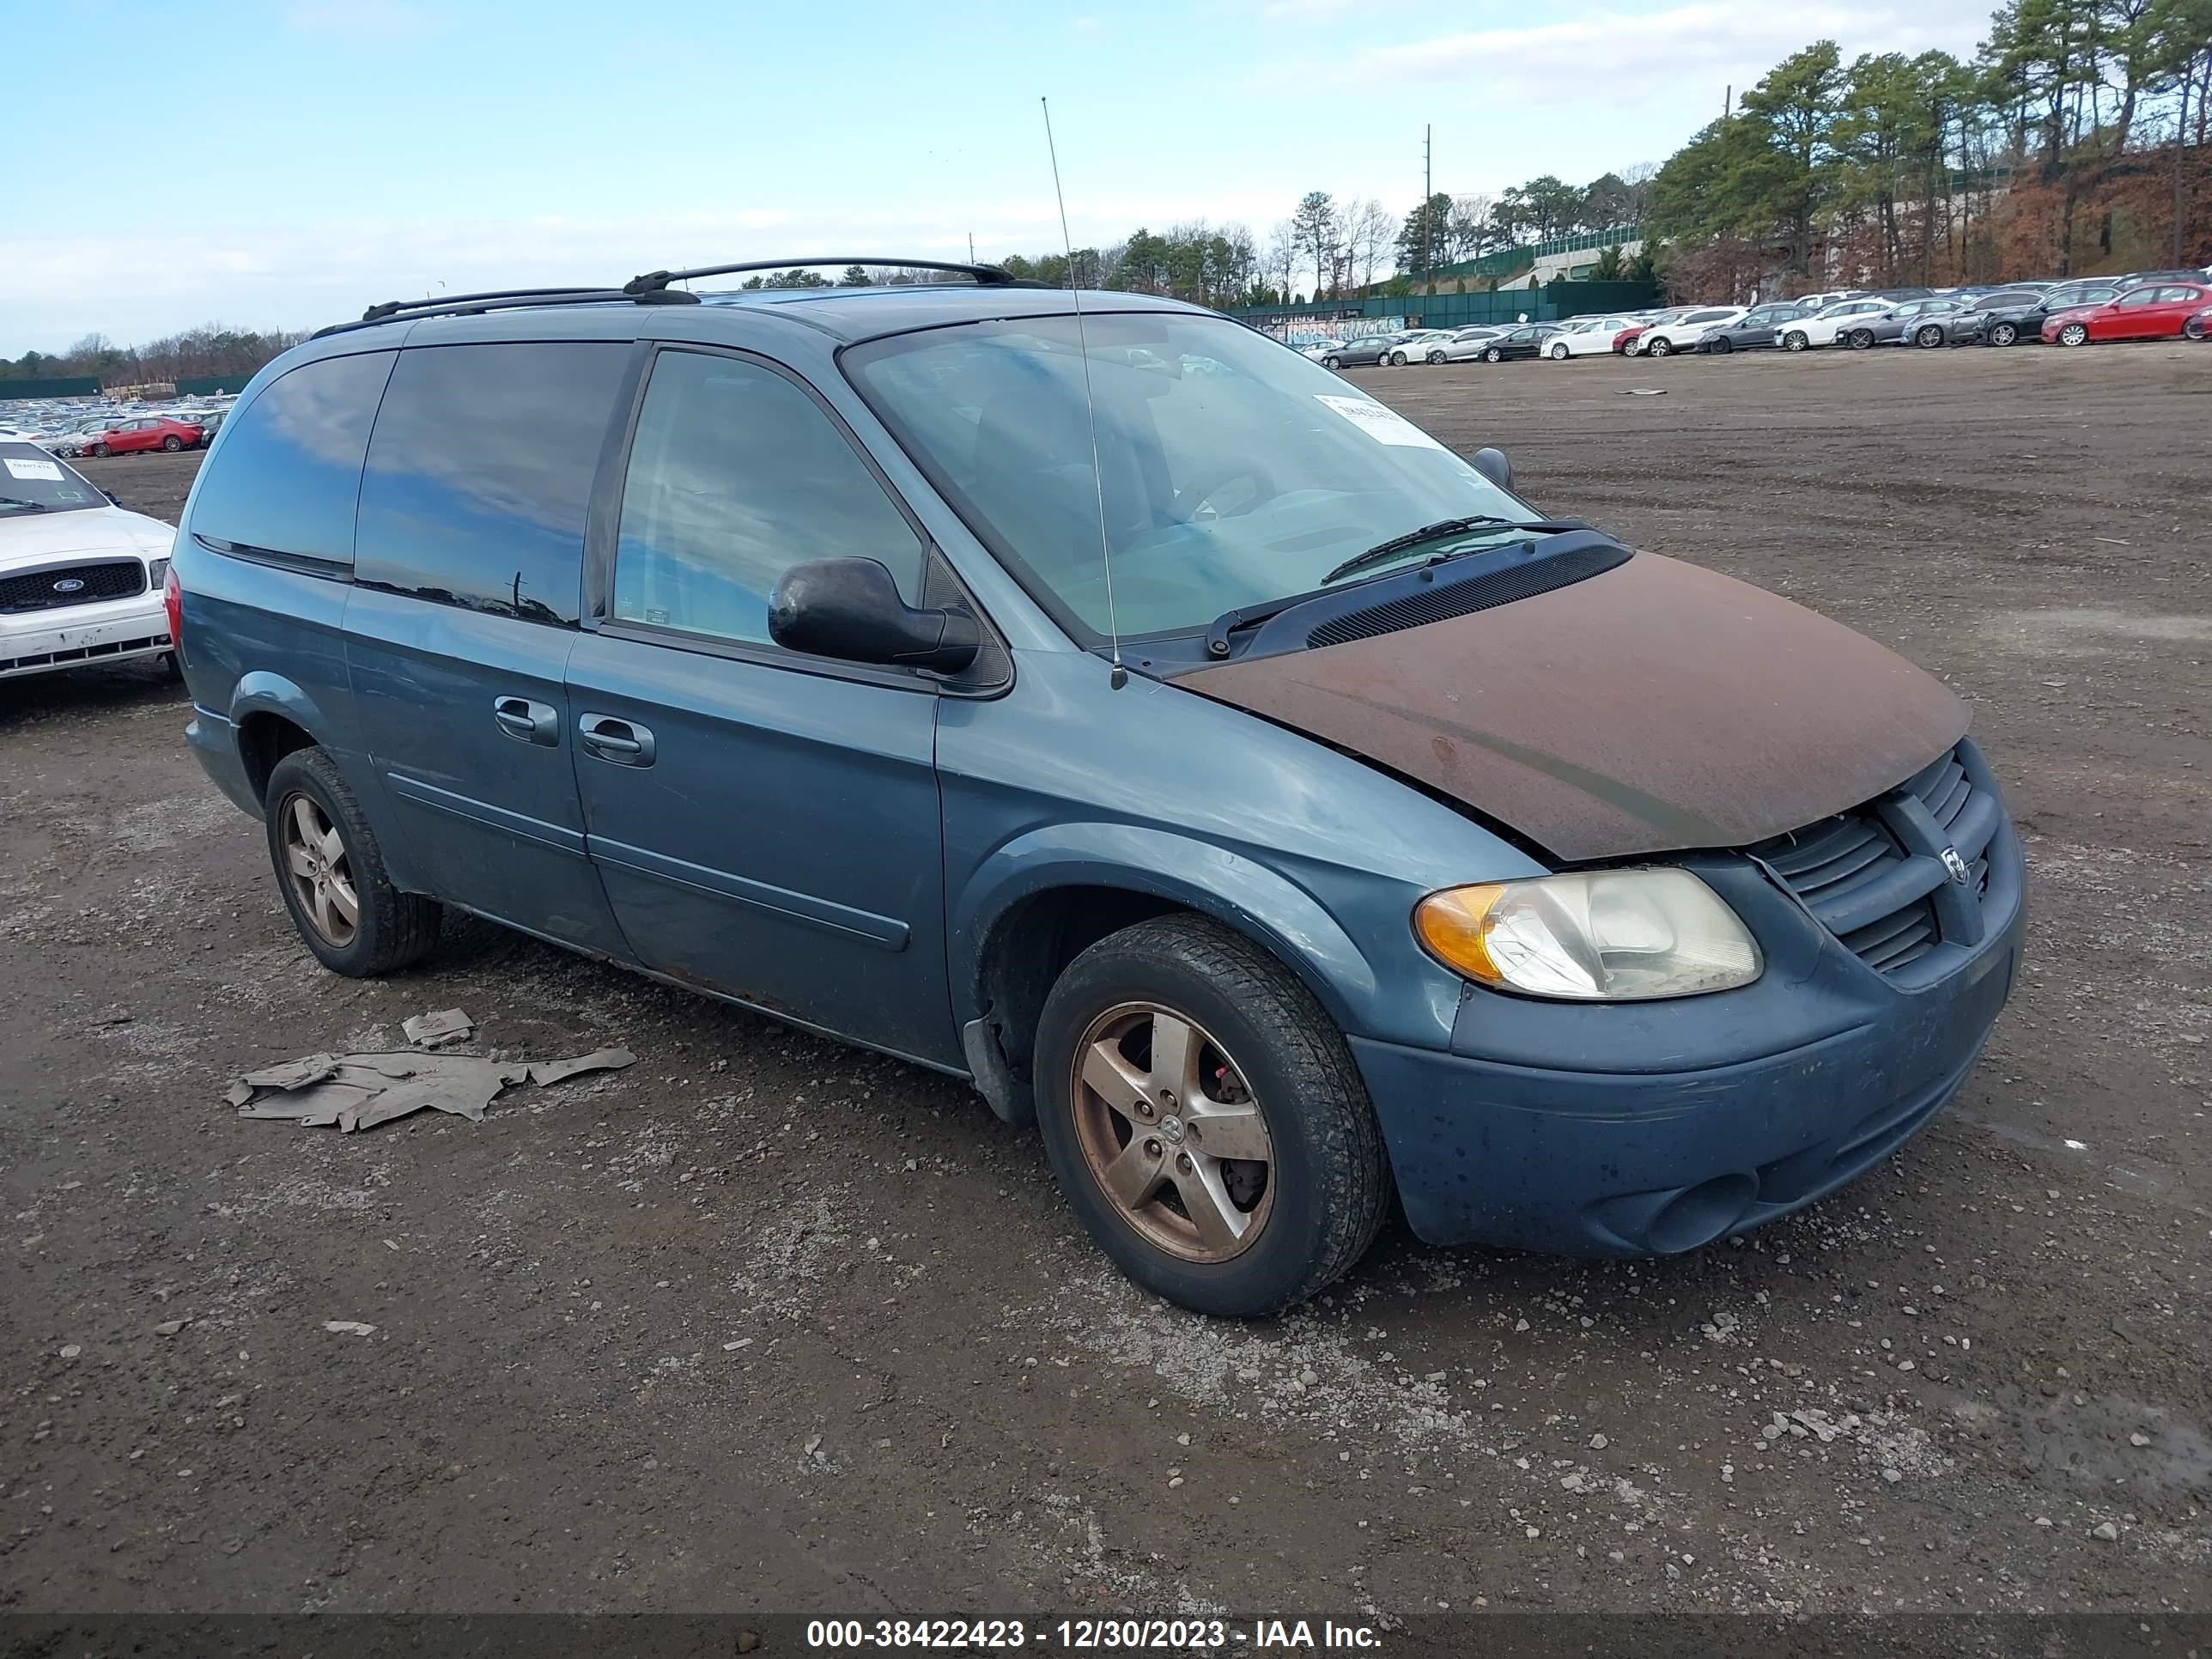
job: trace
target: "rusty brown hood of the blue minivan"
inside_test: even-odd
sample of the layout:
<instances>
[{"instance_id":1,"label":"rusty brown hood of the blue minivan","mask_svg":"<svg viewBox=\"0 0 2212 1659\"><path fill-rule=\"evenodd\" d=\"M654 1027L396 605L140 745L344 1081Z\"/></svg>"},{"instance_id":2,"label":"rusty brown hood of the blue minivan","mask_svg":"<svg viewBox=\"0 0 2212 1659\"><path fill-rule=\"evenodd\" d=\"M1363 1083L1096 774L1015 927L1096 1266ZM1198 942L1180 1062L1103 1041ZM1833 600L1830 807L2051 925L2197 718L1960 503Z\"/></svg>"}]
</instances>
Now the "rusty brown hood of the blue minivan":
<instances>
[{"instance_id":1,"label":"rusty brown hood of the blue minivan","mask_svg":"<svg viewBox=\"0 0 2212 1659\"><path fill-rule=\"evenodd\" d=\"M1898 785L1966 730L1966 706L1896 653L1657 553L1177 684L1387 765L1564 860L1798 830Z\"/></svg>"}]
</instances>

